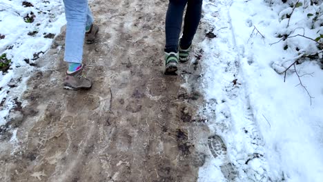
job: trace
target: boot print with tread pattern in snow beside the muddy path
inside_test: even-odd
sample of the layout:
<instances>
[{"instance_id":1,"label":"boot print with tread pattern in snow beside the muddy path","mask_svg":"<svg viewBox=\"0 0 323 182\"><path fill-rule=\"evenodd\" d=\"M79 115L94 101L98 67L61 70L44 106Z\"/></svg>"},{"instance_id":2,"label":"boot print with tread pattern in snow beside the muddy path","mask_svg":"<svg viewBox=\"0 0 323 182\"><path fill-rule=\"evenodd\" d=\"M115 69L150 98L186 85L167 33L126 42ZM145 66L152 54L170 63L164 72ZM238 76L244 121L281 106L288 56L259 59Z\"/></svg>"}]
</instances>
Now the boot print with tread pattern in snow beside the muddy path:
<instances>
[{"instance_id":1,"label":"boot print with tread pattern in snow beside the muddy path","mask_svg":"<svg viewBox=\"0 0 323 182\"><path fill-rule=\"evenodd\" d=\"M208 138L208 148L210 148L215 159L220 159L224 164L220 165L221 172L228 181L233 181L237 177L232 163L228 161L226 144L220 136L214 135Z\"/></svg>"}]
</instances>

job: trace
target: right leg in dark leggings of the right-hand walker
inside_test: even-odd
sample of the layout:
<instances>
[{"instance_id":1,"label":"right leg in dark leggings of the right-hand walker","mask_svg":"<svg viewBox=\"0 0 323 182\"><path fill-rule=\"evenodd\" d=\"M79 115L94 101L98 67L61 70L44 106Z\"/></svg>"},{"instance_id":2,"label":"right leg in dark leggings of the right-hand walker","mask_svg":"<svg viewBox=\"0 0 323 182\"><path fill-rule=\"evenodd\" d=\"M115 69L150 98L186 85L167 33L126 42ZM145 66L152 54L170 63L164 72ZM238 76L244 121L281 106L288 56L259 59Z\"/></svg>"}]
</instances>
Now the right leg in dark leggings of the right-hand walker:
<instances>
[{"instance_id":1,"label":"right leg in dark leggings of the right-hand walker","mask_svg":"<svg viewBox=\"0 0 323 182\"><path fill-rule=\"evenodd\" d=\"M186 50L192 44L199 21L202 14L202 0L188 0L188 5L184 20L183 37L181 39L181 48Z\"/></svg>"}]
</instances>

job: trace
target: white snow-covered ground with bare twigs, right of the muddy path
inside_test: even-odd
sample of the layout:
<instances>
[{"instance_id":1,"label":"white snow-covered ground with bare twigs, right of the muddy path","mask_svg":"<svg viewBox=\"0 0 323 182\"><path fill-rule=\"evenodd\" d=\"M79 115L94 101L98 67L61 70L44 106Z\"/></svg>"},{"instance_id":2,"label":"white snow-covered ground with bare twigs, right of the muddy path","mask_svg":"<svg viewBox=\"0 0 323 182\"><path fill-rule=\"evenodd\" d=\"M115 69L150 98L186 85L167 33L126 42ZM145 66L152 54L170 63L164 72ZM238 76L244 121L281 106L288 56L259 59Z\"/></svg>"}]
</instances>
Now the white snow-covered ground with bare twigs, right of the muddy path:
<instances>
[{"instance_id":1,"label":"white snow-covered ground with bare twigs, right of the muddy path","mask_svg":"<svg viewBox=\"0 0 323 182\"><path fill-rule=\"evenodd\" d=\"M199 181L226 181L226 171L235 181L322 181L322 39L314 40L323 34L323 5L316 2L204 1L203 23L217 35L199 45L208 124L220 136L209 145L223 140L227 156L210 157ZM289 65L284 81L279 73Z\"/></svg>"}]
</instances>

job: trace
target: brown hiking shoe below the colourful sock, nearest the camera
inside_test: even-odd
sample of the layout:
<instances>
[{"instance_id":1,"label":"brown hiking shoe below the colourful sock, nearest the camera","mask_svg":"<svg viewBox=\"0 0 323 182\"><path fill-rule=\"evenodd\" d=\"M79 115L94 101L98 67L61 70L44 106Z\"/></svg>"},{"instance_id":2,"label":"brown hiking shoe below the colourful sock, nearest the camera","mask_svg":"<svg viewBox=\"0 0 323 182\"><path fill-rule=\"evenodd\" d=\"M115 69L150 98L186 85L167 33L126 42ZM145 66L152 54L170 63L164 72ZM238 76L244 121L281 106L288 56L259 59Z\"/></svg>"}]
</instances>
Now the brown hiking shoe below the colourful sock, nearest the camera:
<instances>
[{"instance_id":1,"label":"brown hiking shoe below the colourful sock, nearest the camera","mask_svg":"<svg viewBox=\"0 0 323 182\"><path fill-rule=\"evenodd\" d=\"M67 90L80 90L90 89L92 87L92 81L86 78L83 74L84 65L75 72L66 72L66 79L64 81L64 88Z\"/></svg>"}]
</instances>

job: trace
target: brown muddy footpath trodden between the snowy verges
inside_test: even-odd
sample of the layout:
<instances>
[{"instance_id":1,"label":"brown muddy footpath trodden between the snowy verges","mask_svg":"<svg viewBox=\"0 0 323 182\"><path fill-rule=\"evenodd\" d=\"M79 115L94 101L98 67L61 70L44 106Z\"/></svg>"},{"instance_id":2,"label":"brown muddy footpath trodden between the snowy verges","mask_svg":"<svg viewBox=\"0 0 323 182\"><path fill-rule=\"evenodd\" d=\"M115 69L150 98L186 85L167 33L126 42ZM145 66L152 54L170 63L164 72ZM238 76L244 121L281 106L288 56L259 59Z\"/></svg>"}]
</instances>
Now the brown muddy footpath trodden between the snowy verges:
<instances>
[{"instance_id":1,"label":"brown muddy footpath trodden between the snowy verges","mask_svg":"<svg viewBox=\"0 0 323 182\"><path fill-rule=\"evenodd\" d=\"M62 30L12 112L19 142L0 143L0 181L197 181L208 140L198 63L163 74L167 3L92 3L100 31L84 46L89 91L62 89Z\"/></svg>"}]
</instances>

